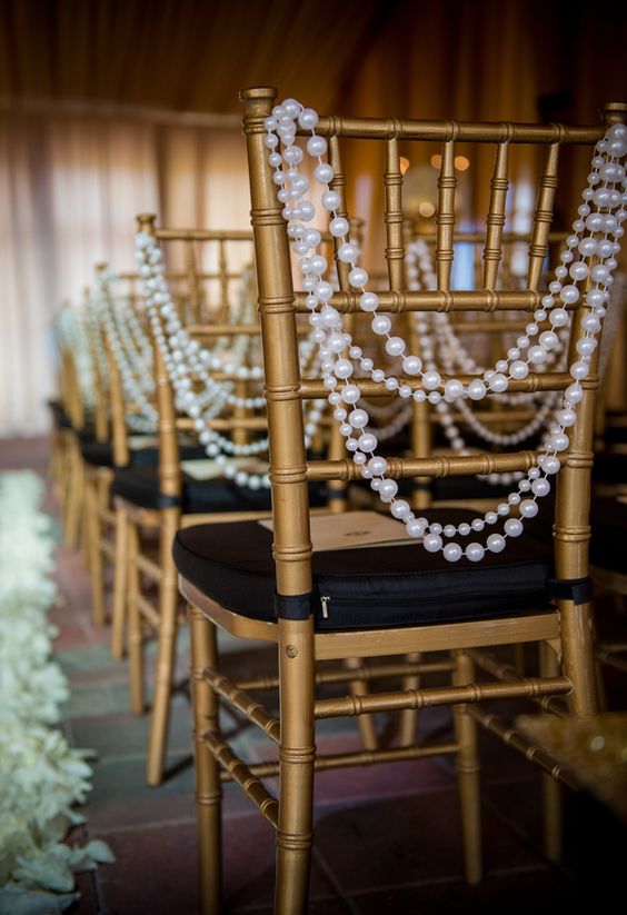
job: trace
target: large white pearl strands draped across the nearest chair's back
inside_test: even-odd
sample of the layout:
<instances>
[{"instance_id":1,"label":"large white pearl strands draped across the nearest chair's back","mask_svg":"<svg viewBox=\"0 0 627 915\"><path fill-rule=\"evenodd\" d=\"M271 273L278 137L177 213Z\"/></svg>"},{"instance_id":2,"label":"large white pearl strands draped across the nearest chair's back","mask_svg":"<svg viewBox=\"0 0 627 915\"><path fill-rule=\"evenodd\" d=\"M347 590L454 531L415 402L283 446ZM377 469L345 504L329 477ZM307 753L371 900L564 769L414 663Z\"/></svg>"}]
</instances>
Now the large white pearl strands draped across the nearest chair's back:
<instances>
[{"instance_id":1,"label":"large white pearl strands draped across the nearest chair's back","mask_svg":"<svg viewBox=\"0 0 627 915\"><path fill-rule=\"evenodd\" d=\"M350 266L348 281L360 292L359 306L371 316L372 331L385 338L386 352L400 360L405 375L420 379L420 387L415 391L402 378L399 380L388 375L385 369L375 367L372 359L362 356L361 348L352 344L351 335L344 331L341 314L330 305L332 287L322 279L319 261L324 258L317 252L321 236L307 226L314 219L316 208L303 199L309 182L298 168L303 160L303 151L295 142L297 123L302 130L311 131L306 150L317 160L314 178L322 187L321 206L329 213L329 231L338 240L337 256ZM334 407L334 417L340 424L346 447L361 468L362 476L370 480L371 488L389 506L392 517L405 524L408 536L419 539L429 553L441 550L451 563L461 557L480 561L486 550L500 553L506 547L507 538L522 534L525 519L537 515L538 499L550 491L549 477L560 468L557 455L569 446L566 430L577 421L577 405L584 396L581 381L588 375L597 347L596 337L606 314L613 271L617 266L616 255L620 250L619 238L624 233L621 223L627 218L625 168L619 161L627 153L627 127L614 125L596 145L588 183L581 195L584 202L579 207L579 218L573 223L573 235L566 240L563 265L557 268L556 279L543 297L541 307L534 312L534 321L527 326L527 332L517 340L517 347L514 351L509 350L505 359L466 385L455 377L442 382L439 371L425 368L418 356L407 352L406 341L390 332L392 325L389 316L379 314L379 298L367 289L368 272L357 263L358 247L349 238L348 220L337 213L340 196L330 188L334 169L324 160L327 141L316 133L317 123L318 115L314 109L303 108L295 99L287 99L276 106L266 119L265 142L269 163L275 169L272 180L279 188L277 197L283 203L287 233L299 258L302 287L308 292L309 321L315 328L314 339L320 347L324 384L329 390L328 400ZM594 263L590 262L591 258L595 258ZM548 354L556 346L557 329L565 327L569 320L564 306L575 305L579 300L581 292L578 285L588 278L590 288L584 302L586 314L575 347L577 358L568 368L573 382L561 396L561 407L556 412L544 454L519 480L517 489L508 495L507 500L499 503L494 511L487 511L482 518L475 518L470 525L462 523L442 528L427 518L417 518L409 503L397 497L396 480L386 477L388 465L376 452L376 436L364 431L369 416L361 405L359 385L352 379L355 366L358 365L362 371L370 374L372 380L384 382L387 390L404 399L412 397L417 401L428 400L436 405L442 399L445 402L459 398L478 401L488 394L502 394L507 391L510 379L524 379L530 368L547 361ZM551 330L541 331L540 325L547 320ZM514 508L519 517L509 517ZM502 534L489 534L484 543L465 543L471 534L489 529L499 519L505 521ZM462 543L452 538L461 538Z\"/></svg>"}]
</instances>

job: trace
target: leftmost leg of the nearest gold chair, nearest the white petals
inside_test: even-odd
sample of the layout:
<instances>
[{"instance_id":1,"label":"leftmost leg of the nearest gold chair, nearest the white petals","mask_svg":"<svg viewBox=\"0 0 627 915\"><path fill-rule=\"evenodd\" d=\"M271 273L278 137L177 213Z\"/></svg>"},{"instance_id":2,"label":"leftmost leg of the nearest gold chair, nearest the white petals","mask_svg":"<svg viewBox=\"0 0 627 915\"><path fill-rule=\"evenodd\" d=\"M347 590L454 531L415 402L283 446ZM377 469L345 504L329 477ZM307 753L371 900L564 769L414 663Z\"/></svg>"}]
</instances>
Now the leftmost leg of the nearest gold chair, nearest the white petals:
<instances>
[{"instance_id":1,"label":"leftmost leg of the nearest gold chair, nearest the white petals","mask_svg":"<svg viewBox=\"0 0 627 915\"><path fill-rule=\"evenodd\" d=\"M200 911L202 915L218 915L222 896L222 790L220 766L202 742L203 734L217 734L220 728L218 696L202 679L206 667L217 666L218 648L215 625L196 607L189 608L189 621Z\"/></svg>"}]
</instances>

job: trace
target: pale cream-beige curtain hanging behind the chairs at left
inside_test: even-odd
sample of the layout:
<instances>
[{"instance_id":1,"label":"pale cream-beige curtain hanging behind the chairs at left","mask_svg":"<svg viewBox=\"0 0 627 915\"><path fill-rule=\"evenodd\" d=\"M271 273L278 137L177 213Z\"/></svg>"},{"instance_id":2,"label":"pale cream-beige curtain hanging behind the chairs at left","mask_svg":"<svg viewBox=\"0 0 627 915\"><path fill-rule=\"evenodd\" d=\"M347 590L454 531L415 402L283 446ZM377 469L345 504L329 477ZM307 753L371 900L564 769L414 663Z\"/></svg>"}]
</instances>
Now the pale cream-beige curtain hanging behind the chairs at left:
<instances>
[{"instance_id":1,"label":"pale cream-beige curtain hanging behind the chairs at left","mask_svg":"<svg viewBox=\"0 0 627 915\"><path fill-rule=\"evenodd\" d=\"M138 212L160 225L246 229L239 129L150 120L0 120L0 436L47 428L56 389L51 324L93 268L135 268Z\"/></svg>"}]
</instances>

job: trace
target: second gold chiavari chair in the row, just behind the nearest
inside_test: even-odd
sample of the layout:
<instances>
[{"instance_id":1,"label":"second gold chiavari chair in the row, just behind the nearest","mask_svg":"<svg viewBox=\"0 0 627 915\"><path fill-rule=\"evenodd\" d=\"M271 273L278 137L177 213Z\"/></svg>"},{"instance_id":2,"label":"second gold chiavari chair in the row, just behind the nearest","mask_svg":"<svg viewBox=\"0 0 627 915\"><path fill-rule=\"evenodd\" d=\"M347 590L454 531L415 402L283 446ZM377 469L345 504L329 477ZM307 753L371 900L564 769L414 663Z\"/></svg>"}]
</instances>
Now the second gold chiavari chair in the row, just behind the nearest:
<instances>
[{"instance_id":1,"label":"second gold chiavari chair in the row, just behind the nearest","mask_svg":"<svg viewBox=\"0 0 627 915\"><path fill-rule=\"evenodd\" d=\"M231 266L227 252L235 248L238 253L231 251L231 256L239 257L240 260L243 258L245 263L250 263L252 238L249 232L160 229L156 228L155 217L151 216L138 217L138 226L140 231L156 239L166 250L177 242L183 247L185 276L181 277L181 282L171 284L171 288L172 301L188 334L193 336L197 328L205 344L216 339L226 339L232 344L238 335L250 340L258 337L256 325L246 322L245 319L243 324L237 325L229 320L233 284L242 281L245 270L242 267L236 269ZM202 246L205 251L213 246L218 251L215 271L206 270L198 262L198 246ZM210 473L208 478L202 478L205 471L219 470L216 461L195 461L196 466L191 467L182 460L179 436L192 435L195 421L183 416L177 407L166 358L155 328L151 330L159 415L158 465L116 470L111 491L116 506L118 549L126 556L123 571L117 564L113 630L115 638L119 640L123 619L127 619L130 700L136 714L142 714L146 709L146 633L157 633L147 780L150 785L158 785L165 770L179 625L176 569L171 559L173 536L180 527L196 518L213 523L226 517L268 515L269 493L262 488L252 490L239 487L225 479L222 471ZM232 380L239 399L246 400L251 382L238 377L235 368L232 372L235 375L230 379L225 371L216 377L221 376L225 381ZM221 434L231 434L233 441L238 444L246 444L251 436L263 431L266 419L258 412L251 415L250 408L236 405L227 407L226 412L219 412L211 421L211 427ZM240 459L240 463L252 464L253 459ZM152 539L150 543L147 537L150 531L157 538L156 541ZM155 586L156 600L150 597L150 589Z\"/></svg>"}]
</instances>

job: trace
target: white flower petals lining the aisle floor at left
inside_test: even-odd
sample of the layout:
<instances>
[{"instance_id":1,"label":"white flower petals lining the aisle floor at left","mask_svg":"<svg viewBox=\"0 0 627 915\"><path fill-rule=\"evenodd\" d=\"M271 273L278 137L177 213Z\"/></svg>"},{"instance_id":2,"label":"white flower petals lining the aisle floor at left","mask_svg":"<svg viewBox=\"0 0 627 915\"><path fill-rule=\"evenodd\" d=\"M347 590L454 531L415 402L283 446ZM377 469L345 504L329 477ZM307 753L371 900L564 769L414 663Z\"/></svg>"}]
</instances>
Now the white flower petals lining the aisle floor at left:
<instances>
[{"instance_id":1,"label":"white flower petals lining the aisle floor at left","mask_svg":"<svg viewBox=\"0 0 627 915\"><path fill-rule=\"evenodd\" d=\"M0 475L0 915L63 912L79 898L74 873L113 861L99 841L62 844L83 822L74 805L91 767L54 729L69 693L51 660L54 538L42 489L30 471Z\"/></svg>"}]
</instances>

